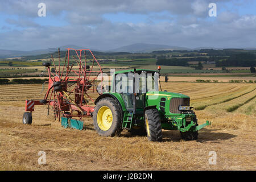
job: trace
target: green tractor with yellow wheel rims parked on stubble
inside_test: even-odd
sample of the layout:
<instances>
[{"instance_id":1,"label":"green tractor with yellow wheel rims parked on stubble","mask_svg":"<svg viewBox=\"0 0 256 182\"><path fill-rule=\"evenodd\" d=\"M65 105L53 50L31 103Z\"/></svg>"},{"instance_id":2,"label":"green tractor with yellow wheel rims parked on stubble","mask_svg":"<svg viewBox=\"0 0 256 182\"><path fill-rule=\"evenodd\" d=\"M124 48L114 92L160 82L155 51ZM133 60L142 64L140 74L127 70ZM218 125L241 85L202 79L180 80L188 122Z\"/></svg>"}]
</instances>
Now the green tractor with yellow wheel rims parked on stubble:
<instances>
[{"instance_id":1,"label":"green tractor with yellow wheel rims parked on stubble","mask_svg":"<svg viewBox=\"0 0 256 182\"><path fill-rule=\"evenodd\" d=\"M158 71L131 69L112 74L111 86L95 101L93 125L99 135L119 136L127 129L132 135L144 135L150 141L160 142L164 129L179 130L184 140L197 139L198 131L210 122L197 124L188 96L162 92L159 72L160 68Z\"/></svg>"}]
</instances>

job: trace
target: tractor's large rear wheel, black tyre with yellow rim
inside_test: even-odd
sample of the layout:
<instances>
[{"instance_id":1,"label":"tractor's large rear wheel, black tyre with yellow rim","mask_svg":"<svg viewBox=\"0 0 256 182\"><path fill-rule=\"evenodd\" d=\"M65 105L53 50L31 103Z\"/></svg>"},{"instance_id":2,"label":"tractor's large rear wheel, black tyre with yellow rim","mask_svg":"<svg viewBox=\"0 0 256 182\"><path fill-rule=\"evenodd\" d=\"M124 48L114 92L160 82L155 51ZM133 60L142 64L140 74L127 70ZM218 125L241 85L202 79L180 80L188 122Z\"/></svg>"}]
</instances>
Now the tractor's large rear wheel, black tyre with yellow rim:
<instances>
[{"instance_id":1,"label":"tractor's large rear wheel, black tyre with yellow rim","mask_svg":"<svg viewBox=\"0 0 256 182\"><path fill-rule=\"evenodd\" d=\"M122 131L122 110L113 98L102 98L93 112L94 129L100 136L119 136Z\"/></svg>"}]
</instances>

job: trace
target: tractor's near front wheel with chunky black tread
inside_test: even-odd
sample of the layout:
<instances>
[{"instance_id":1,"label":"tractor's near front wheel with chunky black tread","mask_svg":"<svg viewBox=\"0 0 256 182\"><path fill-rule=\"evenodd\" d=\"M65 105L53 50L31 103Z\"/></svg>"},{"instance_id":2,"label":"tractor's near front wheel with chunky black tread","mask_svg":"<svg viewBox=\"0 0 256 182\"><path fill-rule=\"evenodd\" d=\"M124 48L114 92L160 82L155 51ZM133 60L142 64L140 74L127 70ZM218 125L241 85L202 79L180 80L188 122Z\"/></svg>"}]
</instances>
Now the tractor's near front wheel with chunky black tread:
<instances>
[{"instance_id":1,"label":"tractor's near front wheel with chunky black tread","mask_svg":"<svg viewBox=\"0 0 256 182\"><path fill-rule=\"evenodd\" d=\"M148 109L145 111L145 128L147 131L147 139L152 142L162 141L162 127L157 109Z\"/></svg>"}]
</instances>

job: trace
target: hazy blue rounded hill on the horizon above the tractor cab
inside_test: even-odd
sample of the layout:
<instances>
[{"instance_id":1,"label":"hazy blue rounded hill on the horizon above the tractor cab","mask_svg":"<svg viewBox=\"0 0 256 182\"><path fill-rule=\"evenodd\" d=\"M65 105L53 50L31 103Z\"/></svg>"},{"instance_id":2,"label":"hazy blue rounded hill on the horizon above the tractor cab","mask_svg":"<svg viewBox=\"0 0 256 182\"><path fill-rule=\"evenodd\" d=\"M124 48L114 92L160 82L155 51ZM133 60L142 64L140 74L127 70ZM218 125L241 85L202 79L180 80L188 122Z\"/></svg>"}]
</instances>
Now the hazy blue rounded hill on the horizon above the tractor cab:
<instances>
[{"instance_id":1,"label":"hazy blue rounded hill on the horizon above the tractor cab","mask_svg":"<svg viewBox=\"0 0 256 182\"><path fill-rule=\"evenodd\" d=\"M159 50L189 50L189 48L185 47L177 47L177 46L168 46L162 44L131 44L129 46L123 46L116 49L110 49L108 52L152 52L152 51L159 51Z\"/></svg>"}]
</instances>

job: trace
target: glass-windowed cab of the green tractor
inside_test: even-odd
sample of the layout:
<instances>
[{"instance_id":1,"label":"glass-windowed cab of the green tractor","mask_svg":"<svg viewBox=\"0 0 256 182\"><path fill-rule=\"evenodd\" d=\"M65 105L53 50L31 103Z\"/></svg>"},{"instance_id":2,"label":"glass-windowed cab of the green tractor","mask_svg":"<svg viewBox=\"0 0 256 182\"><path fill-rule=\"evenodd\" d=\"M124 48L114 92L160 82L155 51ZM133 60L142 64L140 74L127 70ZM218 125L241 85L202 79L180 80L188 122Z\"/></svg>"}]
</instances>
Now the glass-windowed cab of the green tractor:
<instances>
[{"instance_id":1,"label":"glass-windowed cab of the green tractor","mask_svg":"<svg viewBox=\"0 0 256 182\"><path fill-rule=\"evenodd\" d=\"M112 77L112 93L119 93L127 111L143 112L146 93L158 92L159 73L152 70L133 69L115 72Z\"/></svg>"}]
</instances>

